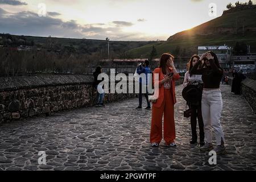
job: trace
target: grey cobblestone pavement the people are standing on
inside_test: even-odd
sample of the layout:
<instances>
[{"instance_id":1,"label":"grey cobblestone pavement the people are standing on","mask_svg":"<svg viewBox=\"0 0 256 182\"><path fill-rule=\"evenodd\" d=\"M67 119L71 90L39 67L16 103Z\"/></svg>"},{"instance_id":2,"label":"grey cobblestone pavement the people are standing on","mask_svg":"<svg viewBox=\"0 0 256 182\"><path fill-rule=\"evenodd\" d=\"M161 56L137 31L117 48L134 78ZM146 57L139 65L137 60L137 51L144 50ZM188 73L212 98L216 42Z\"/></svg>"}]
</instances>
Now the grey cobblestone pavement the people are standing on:
<instances>
[{"instance_id":1,"label":"grey cobblestone pavement the people are standing on","mask_svg":"<svg viewBox=\"0 0 256 182\"><path fill-rule=\"evenodd\" d=\"M85 107L13 121L0 126L1 170L255 170L256 116L242 96L221 85L227 155L208 163L208 152L189 144L189 119L176 87L176 143L169 148L149 143L151 111L135 110L138 98L113 102L105 108ZM143 100L144 106L146 101ZM46 151L46 165L38 164L38 152Z\"/></svg>"}]
</instances>

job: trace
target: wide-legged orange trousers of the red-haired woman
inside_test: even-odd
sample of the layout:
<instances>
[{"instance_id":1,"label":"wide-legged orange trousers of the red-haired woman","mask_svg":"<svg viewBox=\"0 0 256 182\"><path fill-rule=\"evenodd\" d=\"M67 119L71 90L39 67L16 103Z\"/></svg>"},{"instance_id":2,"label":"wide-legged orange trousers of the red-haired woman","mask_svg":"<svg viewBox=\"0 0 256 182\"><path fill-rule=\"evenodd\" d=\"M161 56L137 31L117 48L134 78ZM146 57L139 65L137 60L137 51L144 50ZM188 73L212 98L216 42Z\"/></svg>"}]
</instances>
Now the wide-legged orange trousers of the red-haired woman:
<instances>
[{"instance_id":1,"label":"wide-legged orange trousers of the red-haired woman","mask_svg":"<svg viewBox=\"0 0 256 182\"><path fill-rule=\"evenodd\" d=\"M162 119L164 114L164 132L162 131ZM150 143L160 143L164 133L166 144L174 142L175 122L174 122L174 100L170 89L164 89L164 100L162 105L158 107L152 106L152 119L150 131Z\"/></svg>"}]
</instances>

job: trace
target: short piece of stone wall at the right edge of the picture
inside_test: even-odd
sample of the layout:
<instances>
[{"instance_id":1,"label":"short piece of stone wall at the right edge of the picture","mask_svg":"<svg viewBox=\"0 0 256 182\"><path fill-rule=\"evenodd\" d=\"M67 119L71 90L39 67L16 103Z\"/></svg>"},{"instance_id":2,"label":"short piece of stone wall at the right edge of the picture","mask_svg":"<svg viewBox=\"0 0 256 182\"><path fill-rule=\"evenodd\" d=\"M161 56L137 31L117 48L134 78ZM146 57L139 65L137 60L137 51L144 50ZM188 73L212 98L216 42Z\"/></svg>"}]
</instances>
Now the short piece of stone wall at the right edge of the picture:
<instances>
[{"instance_id":1,"label":"short piece of stone wall at the right edge of the picture","mask_svg":"<svg viewBox=\"0 0 256 182\"><path fill-rule=\"evenodd\" d=\"M251 109L253 109L256 114L256 80L246 78L241 83L242 86L242 96L250 104Z\"/></svg>"}]
</instances>

